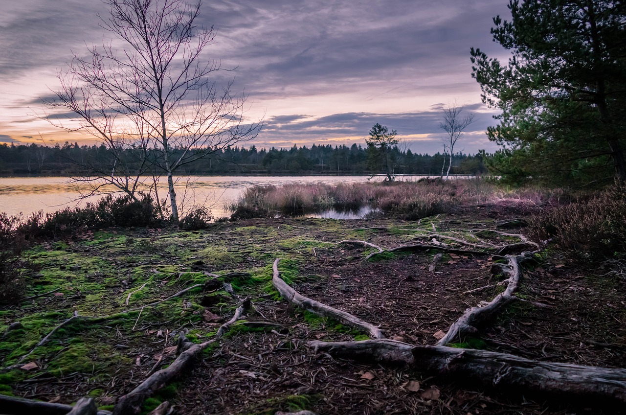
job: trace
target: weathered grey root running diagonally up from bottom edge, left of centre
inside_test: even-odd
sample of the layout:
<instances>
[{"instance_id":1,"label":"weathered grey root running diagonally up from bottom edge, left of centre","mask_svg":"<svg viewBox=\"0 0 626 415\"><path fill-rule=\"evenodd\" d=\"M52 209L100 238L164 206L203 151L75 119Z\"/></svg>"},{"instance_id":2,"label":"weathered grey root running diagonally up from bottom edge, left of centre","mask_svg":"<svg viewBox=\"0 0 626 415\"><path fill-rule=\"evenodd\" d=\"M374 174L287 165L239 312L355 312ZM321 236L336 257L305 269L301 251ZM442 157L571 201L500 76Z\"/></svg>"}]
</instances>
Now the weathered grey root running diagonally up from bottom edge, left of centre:
<instances>
[{"instance_id":1,"label":"weathered grey root running diagonally up from bottom edge, left of centre","mask_svg":"<svg viewBox=\"0 0 626 415\"><path fill-rule=\"evenodd\" d=\"M167 386L167 384L172 382L173 379L188 369L192 365L193 359L195 359L195 357L197 357L197 355L200 354L200 352L202 352L202 350L204 350L208 345L213 344L220 339L220 337L222 337L225 333L225 330L230 327L232 323L236 322L242 316L244 311L244 305L238 307L237 310L235 310L233 318L228 320L228 322L223 323L219 330L217 330L215 337L207 342L192 344L192 342L185 339L184 335L181 333L180 336L184 339L182 344L183 352L179 354L168 367L157 370L135 389L120 397L115 405L115 408L113 409L113 415L130 415L140 413L143 401L152 396L159 389Z\"/></svg>"}]
</instances>

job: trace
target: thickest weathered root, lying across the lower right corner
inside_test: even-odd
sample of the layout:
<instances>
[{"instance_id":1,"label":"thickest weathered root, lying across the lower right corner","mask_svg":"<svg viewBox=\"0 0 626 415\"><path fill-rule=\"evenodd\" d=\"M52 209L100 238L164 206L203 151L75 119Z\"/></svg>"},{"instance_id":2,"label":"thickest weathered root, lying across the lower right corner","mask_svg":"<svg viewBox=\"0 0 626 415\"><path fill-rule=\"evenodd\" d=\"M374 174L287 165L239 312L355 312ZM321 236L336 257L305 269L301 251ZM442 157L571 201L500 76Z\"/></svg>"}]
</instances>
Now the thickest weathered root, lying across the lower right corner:
<instances>
[{"instance_id":1,"label":"thickest weathered root, lying across the lower right corner","mask_svg":"<svg viewBox=\"0 0 626 415\"><path fill-rule=\"evenodd\" d=\"M446 375L469 384L551 394L560 399L626 403L626 369L549 363L485 350L409 345L394 340L308 342L316 352L352 359L407 364L414 369Z\"/></svg>"}]
</instances>

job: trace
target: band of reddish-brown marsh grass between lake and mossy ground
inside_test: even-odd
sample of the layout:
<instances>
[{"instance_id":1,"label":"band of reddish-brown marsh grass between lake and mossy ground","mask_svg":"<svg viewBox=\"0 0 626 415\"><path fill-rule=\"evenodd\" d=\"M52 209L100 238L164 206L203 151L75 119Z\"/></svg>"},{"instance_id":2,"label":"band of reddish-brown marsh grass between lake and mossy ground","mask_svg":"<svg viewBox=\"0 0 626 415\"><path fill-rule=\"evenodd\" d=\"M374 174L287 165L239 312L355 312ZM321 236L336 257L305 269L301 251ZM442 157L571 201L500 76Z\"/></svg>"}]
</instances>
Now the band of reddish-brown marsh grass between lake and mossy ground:
<instances>
[{"instance_id":1,"label":"band of reddish-brown marsh grass between lake and mossy ground","mask_svg":"<svg viewBox=\"0 0 626 415\"><path fill-rule=\"evenodd\" d=\"M552 192L554 193L554 192ZM286 184L253 186L228 207L232 219L300 216L334 209L358 211L364 206L382 214L416 220L449 211L458 205L542 204L552 197L536 189L506 189L481 179L441 181L422 179L393 184Z\"/></svg>"}]
</instances>

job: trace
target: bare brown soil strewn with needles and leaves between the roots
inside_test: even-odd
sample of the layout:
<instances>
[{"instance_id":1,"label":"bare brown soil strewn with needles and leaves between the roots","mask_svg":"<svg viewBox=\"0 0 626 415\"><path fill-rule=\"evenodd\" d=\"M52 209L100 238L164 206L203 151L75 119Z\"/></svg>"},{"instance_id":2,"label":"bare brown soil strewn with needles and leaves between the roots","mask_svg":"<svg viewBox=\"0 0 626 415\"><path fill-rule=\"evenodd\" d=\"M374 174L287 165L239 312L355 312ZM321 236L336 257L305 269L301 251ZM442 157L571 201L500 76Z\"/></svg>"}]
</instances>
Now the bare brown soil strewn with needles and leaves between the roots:
<instances>
[{"instance_id":1,"label":"bare brown soil strewn with needles and leaves between the roots","mask_svg":"<svg viewBox=\"0 0 626 415\"><path fill-rule=\"evenodd\" d=\"M459 209L454 214L431 219L438 233L456 229L458 238L462 239L462 233L468 229L493 229L496 221L524 218L531 213L533 209L529 207L483 206ZM387 219L249 219L217 224L203 231L202 244L223 245L235 251L249 250L250 244L268 247L263 258L250 255L243 262L222 262L222 269L245 270L267 266L274 258L297 258L302 278L293 286L302 295L379 324L386 337L411 344L434 344L435 334L439 330L445 332L466 308L491 300L502 289L496 286L498 278L490 272L493 262L489 256L444 255L431 272L429 266L436 251L398 254L376 261L363 261L366 250L360 246L329 245L312 250L304 244L284 245L272 251L280 240L290 238L329 243L345 238L362 239L382 248L393 248L408 243L410 233L383 228L399 225L406 225L407 229L424 228L431 226L431 220L423 219L418 224ZM242 231L242 228L250 230ZM506 231L524 233L525 229ZM525 265L520 297L528 302L516 302L508 307L470 347L480 345L487 350L536 360L626 367L623 276L610 273L615 271L610 266L581 265L550 251L543 256L540 262ZM170 261L177 261L175 255L164 263ZM210 258L204 262L204 269L217 271L212 269ZM464 294L487 285L493 286ZM317 414L619 412L600 407L602 402L565 402L522 396L515 391L485 390L464 384L463 379L446 379L435 373L315 355L307 349L307 340L352 340L358 333L331 320L311 318L272 295L255 294L256 311L250 313L248 320L275 325L262 331L227 335L205 353L170 397L176 413L273 414L296 407L307 407ZM219 310L210 310L219 315ZM208 331L218 325L203 322L195 328ZM165 329L174 331L176 327L155 322L145 325L143 333ZM115 334L94 332L93 335L107 341L107 337ZM129 357L138 354L150 357L163 347L162 340L148 346L145 340L140 335L125 339L131 348ZM111 375L113 382L98 387L105 389L103 396L123 394L145 379L150 367L151 362L113 368L116 369ZM61 396L64 402L71 402L94 387L85 386L81 383L83 379L77 376L23 383L16 385L14 392L44 400ZM419 382L418 391L414 390L416 383L412 381Z\"/></svg>"}]
</instances>

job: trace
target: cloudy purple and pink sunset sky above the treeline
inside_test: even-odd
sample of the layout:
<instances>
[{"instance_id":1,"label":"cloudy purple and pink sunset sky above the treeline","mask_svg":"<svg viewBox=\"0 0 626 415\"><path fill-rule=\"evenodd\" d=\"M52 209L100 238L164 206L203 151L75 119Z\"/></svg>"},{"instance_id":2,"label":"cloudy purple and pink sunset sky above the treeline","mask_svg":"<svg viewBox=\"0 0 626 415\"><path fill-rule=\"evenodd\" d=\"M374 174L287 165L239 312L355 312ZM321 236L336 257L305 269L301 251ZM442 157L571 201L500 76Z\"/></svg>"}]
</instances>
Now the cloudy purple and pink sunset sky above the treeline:
<instances>
[{"instance_id":1,"label":"cloudy purple and pink sunset sky above the treeline","mask_svg":"<svg viewBox=\"0 0 626 415\"><path fill-rule=\"evenodd\" d=\"M475 122L455 152L498 147L485 135L494 110L481 103L469 48L504 58L491 39L506 0L205 0L198 23L213 27L210 58L247 95L249 120L264 120L249 144L364 144L374 123L407 148L443 150L442 108L456 102ZM73 51L102 44L99 0L0 0L0 142L92 144L46 122L41 98L59 89ZM117 44L116 44L117 45ZM249 145L247 144L247 145Z\"/></svg>"}]
</instances>

